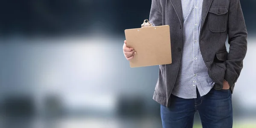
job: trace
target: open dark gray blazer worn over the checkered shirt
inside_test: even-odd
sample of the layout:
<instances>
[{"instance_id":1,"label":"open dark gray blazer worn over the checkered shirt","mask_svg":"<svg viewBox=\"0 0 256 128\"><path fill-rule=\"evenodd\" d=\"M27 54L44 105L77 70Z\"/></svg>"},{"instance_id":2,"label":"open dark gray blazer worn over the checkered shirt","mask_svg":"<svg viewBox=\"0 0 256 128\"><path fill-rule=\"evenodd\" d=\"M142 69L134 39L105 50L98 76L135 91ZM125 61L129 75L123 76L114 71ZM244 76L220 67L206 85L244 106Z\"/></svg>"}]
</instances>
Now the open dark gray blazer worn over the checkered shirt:
<instances>
[{"instance_id":1,"label":"open dark gray blazer worn over the checkered shirt","mask_svg":"<svg viewBox=\"0 0 256 128\"><path fill-rule=\"evenodd\" d=\"M170 26L172 64L160 65L153 96L169 107L183 46L181 0L152 0L149 21L154 26ZM226 79L233 93L247 52L247 29L239 0L204 0L199 45L215 89L221 90Z\"/></svg>"}]
</instances>

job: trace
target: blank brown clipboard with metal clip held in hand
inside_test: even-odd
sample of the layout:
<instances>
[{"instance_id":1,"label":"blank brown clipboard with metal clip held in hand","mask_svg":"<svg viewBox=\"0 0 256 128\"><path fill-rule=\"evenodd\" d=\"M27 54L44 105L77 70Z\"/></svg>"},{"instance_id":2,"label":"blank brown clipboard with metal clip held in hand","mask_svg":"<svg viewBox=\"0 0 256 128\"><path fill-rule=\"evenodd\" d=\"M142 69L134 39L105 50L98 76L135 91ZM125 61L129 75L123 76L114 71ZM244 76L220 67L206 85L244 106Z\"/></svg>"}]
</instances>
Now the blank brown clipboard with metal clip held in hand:
<instances>
[{"instance_id":1,"label":"blank brown clipboard with metal clip held in hand","mask_svg":"<svg viewBox=\"0 0 256 128\"><path fill-rule=\"evenodd\" d=\"M169 25L152 26L146 19L141 28L125 29L127 47L137 52L130 60L130 67L172 64Z\"/></svg>"}]
</instances>

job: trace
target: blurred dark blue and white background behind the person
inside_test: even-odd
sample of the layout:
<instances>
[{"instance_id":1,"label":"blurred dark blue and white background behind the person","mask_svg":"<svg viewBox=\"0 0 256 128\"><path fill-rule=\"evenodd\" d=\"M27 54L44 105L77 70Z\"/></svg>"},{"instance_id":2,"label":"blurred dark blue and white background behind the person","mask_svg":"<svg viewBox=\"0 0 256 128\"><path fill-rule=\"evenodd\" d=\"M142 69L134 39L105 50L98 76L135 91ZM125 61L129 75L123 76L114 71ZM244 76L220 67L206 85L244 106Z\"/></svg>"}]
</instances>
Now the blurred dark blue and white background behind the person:
<instances>
[{"instance_id":1,"label":"blurred dark blue and white background behind the person","mask_svg":"<svg viewBox=\"0 0 256 128\"><path fill-rule=\"evenodd\" d=\"M233 93L234 128L256 128L256 1L240 1L248 52ZM150 7L0 0L0 128L161 128L152 99L159 67L130 68L122 52L124 30L140 27Z\"/></svg>"}]
</instances>

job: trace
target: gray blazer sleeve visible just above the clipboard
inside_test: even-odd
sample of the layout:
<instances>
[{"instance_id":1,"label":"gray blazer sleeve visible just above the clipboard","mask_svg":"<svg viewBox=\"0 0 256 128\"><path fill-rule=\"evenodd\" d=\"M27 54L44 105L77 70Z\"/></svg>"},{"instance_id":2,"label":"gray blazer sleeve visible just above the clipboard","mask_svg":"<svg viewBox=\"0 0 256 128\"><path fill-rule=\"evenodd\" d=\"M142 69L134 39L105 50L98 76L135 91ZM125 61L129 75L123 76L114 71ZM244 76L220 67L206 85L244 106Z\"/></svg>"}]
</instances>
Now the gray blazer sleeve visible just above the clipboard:
<instances>
[{"instance_id":1,"label":"gray blazer sleeve visible just above the clipboard","mask_svg":"<svg viewBox=\"0 0 256 128\"><path fill-rule=\"evenodd\" d=\"M159 7L159 0L152 0L149 22L153 24L153 26L161 26L162 25L162 12Z\"/></svg>"}]
</instances>

